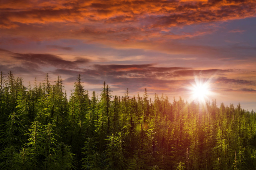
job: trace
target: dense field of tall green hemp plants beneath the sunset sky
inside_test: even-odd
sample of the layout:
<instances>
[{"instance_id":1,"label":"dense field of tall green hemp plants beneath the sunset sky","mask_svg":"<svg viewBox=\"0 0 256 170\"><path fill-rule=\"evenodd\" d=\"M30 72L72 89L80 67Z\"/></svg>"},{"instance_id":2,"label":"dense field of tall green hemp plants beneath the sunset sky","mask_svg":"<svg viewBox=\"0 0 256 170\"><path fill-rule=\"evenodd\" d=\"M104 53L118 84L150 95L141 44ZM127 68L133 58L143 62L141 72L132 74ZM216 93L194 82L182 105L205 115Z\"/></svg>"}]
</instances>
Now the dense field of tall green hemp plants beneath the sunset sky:
<instances>
[{"instance_id":1,"label":"dense field of tall green hemp plants beneath the sunset sky","mask_svg":"<svg viewBox=\"0 0 256 170\"><path fill-rule=\"evenodd\" d=\"M0 79L1 169L255 169L255 112Z\"/></svg>"}]
</instances>

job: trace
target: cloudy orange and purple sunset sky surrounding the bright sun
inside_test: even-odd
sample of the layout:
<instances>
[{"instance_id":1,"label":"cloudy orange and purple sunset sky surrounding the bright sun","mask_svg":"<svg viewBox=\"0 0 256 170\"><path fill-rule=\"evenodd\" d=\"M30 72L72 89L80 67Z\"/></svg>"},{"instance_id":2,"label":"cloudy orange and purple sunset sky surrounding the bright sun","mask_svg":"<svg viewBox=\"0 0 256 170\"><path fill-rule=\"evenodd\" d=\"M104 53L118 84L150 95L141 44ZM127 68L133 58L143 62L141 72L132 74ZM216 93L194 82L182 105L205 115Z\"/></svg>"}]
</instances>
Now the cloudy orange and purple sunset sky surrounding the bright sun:
<instances>
[{"instance_id":1,"label":"cloudy orange and purple sunset sky surrounding the bright sun","mask_svg":"<svg viewBox=\"0 0 256 170\"><path fill-rule=\"evenodd\" d=\"M154 94L256 110L255 0L2 0L0 71L24 84L58 75L70 94L78 74L89 95Z\"/></svg>"}]
</instances>

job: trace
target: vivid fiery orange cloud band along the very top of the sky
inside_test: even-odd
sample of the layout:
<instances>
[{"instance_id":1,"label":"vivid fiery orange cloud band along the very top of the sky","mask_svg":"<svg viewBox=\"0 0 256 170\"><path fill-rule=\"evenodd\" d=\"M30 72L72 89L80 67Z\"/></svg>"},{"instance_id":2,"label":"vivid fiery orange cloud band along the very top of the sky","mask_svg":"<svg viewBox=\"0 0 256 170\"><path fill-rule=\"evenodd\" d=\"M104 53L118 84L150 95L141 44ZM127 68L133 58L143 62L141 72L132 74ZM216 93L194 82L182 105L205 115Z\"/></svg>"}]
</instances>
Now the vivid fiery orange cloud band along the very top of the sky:
<instances>
[{"instance_id":1,"label":"vivid fiery orange cloud band along the very top of the sky","mask_svg":"<svg viewBox=\"0 0 256 170\"><path fill-rule=\"evenodd\" d=\"M256 2L245 1L1 1L3 28L15 23L115 23L144 28L172 27L255 16ZM128 23L127 23L128 22ZM10 25L10 26L3 26ZM127 26L127 25L126 25Z\"/></svg>"}]
</instances>

